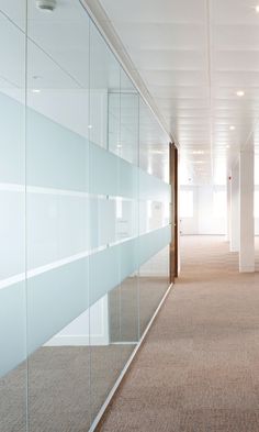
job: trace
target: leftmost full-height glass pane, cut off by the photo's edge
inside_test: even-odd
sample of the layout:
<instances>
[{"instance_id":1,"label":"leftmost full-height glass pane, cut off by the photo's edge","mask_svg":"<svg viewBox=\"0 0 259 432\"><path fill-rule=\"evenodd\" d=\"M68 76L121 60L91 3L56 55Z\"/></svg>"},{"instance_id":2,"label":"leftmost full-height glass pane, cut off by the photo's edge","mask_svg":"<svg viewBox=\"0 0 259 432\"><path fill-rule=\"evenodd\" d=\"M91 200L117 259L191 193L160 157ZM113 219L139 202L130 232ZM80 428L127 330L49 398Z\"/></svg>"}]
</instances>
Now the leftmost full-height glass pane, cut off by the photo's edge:
<instances>
[{"instance_id":1,"label":"leftmost full-height glass pane, cut off by the photo's edge","mask_svg":"<svg viewBox=\"0 0 259 432\"><path fill-rule=\"evenodd\" d=\"M0 4L0 431L26 432L25 1ZM18 26L19 25L19 26Z\"/></svg>"}]
</instances>

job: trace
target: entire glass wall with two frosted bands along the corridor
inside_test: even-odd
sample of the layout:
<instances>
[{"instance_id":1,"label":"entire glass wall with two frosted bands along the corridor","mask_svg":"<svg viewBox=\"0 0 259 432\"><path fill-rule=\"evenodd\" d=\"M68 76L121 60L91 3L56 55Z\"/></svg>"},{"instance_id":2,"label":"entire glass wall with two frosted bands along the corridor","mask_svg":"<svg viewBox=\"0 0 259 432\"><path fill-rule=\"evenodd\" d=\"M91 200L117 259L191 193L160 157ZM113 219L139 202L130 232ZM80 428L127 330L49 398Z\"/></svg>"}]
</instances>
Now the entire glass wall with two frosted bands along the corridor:
<instances>
[{"instance_id":1,"label":"entire glass wall with two frosted bands along the corridor","mask_svg":"<svg viewBox=\"0 0 259 432\"><path fill-rule=\"evenodd\" d=\"M0 12L0 430L87 431L169 287L169 139L80 1Z\"/></svg>"}]
</instances>

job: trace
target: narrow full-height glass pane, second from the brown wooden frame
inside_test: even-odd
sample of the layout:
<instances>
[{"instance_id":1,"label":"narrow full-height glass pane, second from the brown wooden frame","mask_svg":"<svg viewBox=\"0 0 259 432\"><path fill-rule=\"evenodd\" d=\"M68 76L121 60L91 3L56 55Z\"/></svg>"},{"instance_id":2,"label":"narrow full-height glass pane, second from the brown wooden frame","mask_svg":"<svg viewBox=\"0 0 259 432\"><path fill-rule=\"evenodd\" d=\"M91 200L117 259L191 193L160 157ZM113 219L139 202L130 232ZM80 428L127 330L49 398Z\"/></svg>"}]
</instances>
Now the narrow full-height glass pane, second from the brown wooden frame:
<instances>
[{"instance_id":1,"label":"narrow full-height glass pane, second from the brown wooden frame","mask_svg":"<svg viewBox=\"0 0 259 432\"><path fill-rule=\"evenodd\" d=\"M120 153L119 156L134 167L138 163L139 148L139 97L127 75L121 69L121 103L120 103ZM119 182L125 181L125 164L120 164ZM131 196L122 199L121 218L117 218L121 242L131 239L132 246L120 254L121 266L121 323L119 342L124 346L123 364L135 348L139 339L138 322L138 171L132 170L131 177L126 179ZM120 202L120 197L117 198ZM133 272L127 268L131 268ZM130 273L131 272L131 273ZM123 275L126 274L126 278Z\"/></svg>"}]
</instances>

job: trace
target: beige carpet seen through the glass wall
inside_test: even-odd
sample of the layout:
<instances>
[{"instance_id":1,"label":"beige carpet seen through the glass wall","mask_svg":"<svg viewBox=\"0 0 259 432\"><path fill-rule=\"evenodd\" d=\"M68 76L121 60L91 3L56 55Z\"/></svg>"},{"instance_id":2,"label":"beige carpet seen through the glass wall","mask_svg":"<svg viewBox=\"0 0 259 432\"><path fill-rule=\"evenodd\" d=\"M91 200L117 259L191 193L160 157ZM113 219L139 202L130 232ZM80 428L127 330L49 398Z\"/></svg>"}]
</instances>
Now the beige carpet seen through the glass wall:
<instances>
[{"instance_id":1,"label":"beige carpet seen through the glass wall","mask_svg":"<svg viewBox=\"0 0 259 432\"><path fill-rule=\"evenodd\" d=\"M0 378L0 432L87 432L168 285L125 279L109 296L112 344L43 346Z\"/></svg>"}]
</instances>

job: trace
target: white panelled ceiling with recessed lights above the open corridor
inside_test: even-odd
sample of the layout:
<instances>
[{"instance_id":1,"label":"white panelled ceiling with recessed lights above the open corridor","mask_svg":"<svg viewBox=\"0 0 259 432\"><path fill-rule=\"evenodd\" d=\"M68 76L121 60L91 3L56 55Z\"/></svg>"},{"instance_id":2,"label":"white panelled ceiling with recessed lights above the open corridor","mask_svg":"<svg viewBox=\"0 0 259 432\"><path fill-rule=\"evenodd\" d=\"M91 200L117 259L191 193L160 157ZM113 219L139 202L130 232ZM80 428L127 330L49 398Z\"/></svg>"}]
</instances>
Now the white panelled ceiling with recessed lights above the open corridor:
<instances>
[{"instance_id":1,"label":"white panelled ceiling with recessed lights above the open corridor","mask_svg":"<svg viewBox=\"0 0 259 432\"><path fill-rule=\"evenodd\" d=\"M100 3L108 15L105 25L115 29L179 143L189 173L204 181L212 175L216 181L218 175L224 177L240 147L247 142L259 144L259 13L255 1ZM236 96L238 90L245 96Z\"/></svg>"}]
</instances>

